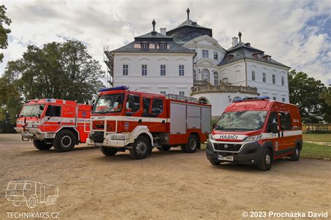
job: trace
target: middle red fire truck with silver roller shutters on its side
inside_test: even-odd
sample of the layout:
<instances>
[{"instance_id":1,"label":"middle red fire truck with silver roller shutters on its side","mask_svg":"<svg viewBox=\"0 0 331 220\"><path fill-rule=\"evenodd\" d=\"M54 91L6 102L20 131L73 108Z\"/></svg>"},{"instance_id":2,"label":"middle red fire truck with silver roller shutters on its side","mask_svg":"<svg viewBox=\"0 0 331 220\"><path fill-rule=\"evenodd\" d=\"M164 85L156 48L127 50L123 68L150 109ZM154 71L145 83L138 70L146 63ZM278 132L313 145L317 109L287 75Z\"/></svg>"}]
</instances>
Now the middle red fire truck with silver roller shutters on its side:
<instances>
[{"instance_id":1,"label":"middle red fire truck with silver roller shutters on its side","mask_svg":"<svg viewBox=\"0 0 331 220\"><path fill-rule=\"evenodd\" d=\"M211 130L211 106L185 96L113 87L101 89L90 126L87 144L100 146L106 156L128 149L132 159L145 159L153 147L168 151L179 145L193 153Z\"/></svg>"}]
</instances>

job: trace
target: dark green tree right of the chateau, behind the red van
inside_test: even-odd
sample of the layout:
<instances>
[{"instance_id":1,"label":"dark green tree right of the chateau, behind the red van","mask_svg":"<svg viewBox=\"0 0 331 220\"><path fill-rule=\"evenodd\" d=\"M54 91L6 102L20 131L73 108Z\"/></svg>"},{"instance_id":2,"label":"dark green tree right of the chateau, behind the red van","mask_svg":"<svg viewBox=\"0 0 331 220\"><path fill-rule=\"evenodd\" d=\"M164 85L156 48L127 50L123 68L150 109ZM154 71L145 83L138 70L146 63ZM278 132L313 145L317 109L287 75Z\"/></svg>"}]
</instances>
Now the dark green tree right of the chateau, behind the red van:
<instances>
[{"instance_id":1,"label":"dark green tree right of the chateau, behind the red van","mask_svg":"<svg viewBox=\"0 0 331 220\"><path fill-rule=\"evenodd\" d=\"M302 120L308 123L320 123L325 119L325 101L321 94L326 87L321 80L310 78L307 73L290 71L288 74L290 103L299 107Z\"/></svg>"}]
</instances>

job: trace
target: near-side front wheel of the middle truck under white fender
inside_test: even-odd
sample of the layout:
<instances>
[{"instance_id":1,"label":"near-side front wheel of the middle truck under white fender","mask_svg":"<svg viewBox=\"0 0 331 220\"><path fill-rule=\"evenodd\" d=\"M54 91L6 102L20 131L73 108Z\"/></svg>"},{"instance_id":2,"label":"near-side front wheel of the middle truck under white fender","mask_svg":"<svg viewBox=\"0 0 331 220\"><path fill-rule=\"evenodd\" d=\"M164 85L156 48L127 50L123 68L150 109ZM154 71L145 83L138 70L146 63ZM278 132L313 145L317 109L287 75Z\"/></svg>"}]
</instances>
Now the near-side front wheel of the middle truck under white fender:
<instances>
[{"instance_id":1,"label":"near-side front wheel of the middle truck under white fender","mask_svg":"<svg viewBox=\"0 0 331 220\"><path fill-rule=\"evenodd\" d=\"M130 149L130 156L135 160L145 159L149 154L149 149L148 139L144 136L138 136L138 138L135 138L135 142L133 142L133 146Z\"/></svg>"}]
</instances>

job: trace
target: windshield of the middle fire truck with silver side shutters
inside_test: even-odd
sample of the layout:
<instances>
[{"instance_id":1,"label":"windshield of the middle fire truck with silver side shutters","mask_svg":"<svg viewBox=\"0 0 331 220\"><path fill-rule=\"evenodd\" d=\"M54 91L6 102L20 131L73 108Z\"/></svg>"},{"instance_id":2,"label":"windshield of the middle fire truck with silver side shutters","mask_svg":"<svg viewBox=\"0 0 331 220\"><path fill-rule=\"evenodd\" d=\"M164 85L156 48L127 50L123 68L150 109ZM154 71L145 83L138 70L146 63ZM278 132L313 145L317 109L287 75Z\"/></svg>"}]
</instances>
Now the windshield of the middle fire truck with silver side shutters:
<instances>
[{"instance_id":1,"label":"windshield of the middle fire truck with silver side shutters","mask_svg":"<svg viewBox=\"0 0 331 220\"><path fill-rule=\"evenodd\" d=\"M107 94L99 96L94 105L94 113L105 114L110 112L121 112L123 107L124 94Z\"/></svg>"}]
</instances>

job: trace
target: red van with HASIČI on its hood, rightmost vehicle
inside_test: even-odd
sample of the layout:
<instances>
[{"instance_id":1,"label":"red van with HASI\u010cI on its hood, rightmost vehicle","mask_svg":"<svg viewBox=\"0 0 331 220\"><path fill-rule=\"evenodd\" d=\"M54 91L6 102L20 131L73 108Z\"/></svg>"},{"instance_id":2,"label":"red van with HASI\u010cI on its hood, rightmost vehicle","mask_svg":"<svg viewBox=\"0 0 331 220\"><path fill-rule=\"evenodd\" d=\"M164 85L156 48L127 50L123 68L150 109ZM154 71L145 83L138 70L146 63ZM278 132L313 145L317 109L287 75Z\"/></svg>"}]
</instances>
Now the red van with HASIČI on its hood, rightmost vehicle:
<instances>
[{"instance_id":1,"label":"red van with HASI\u010cI on its hood, rightmost vehicle","mask_svg":"<svg viewBox=\"0 0 331 220\"><path fill-rule=\"evenodd\" d=\"M302 124L296 105L269 97L236 98L214 125L207 142L207 159L253 164L270 170L272 161L290 156L298 161Z\"/></svg>"}]
</instances>

